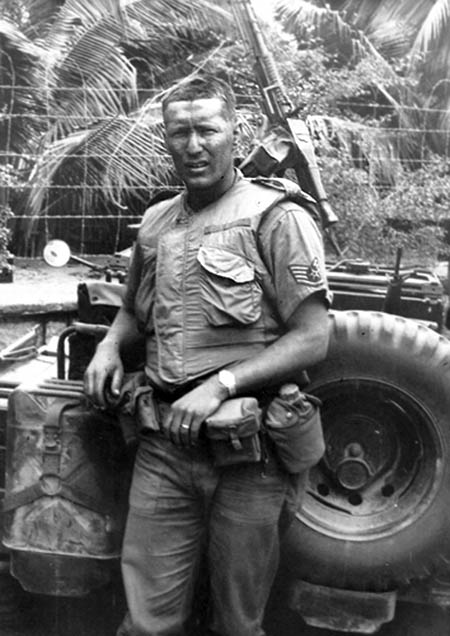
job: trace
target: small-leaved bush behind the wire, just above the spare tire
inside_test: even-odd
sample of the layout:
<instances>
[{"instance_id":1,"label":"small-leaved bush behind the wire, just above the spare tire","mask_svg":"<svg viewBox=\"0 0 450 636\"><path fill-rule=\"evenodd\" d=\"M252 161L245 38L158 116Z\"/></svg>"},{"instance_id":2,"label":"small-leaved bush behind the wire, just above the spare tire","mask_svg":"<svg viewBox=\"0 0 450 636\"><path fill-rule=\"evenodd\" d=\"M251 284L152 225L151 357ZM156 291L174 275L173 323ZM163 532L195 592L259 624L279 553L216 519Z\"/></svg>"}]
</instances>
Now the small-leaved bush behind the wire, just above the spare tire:
<instances>
[{"instance_id":1,"label":"small-leaved bush behind the wire, just above the spare tire","mask_svg":"<svg viewBox=\"0 0 450 636\"><path fill-rule=\"evenodd\" d=\"M448 169L442 160L433 160L405 171L386 190L371 184L369 173L348 160L324 159L322 179L339 217L335 233L343 256L392 265L402 247L410 263L433 266L448 258L443 226L450 209Z\"/></svg>"}]
</instances>

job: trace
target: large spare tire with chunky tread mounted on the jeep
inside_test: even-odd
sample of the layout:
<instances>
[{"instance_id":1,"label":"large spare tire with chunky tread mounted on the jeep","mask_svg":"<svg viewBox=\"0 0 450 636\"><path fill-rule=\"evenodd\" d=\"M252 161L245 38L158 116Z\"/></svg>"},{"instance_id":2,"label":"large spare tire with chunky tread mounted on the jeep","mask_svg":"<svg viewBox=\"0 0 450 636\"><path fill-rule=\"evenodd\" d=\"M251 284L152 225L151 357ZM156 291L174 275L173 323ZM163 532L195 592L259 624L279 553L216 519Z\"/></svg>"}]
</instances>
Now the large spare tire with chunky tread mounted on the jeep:
<instances>
[{"instance_id":1,"label":"large spare tire with chunky tread mounted on the jeep","mask_svg":"<svg viewBox=\"0 0 450 636\"><path fill-rule=\"evenodd\" d=\"M286 567L373 591L448 570L450 341L397 316L335 312L310 378L327 450L283 539Z\"/></svg>"}]
</instances>

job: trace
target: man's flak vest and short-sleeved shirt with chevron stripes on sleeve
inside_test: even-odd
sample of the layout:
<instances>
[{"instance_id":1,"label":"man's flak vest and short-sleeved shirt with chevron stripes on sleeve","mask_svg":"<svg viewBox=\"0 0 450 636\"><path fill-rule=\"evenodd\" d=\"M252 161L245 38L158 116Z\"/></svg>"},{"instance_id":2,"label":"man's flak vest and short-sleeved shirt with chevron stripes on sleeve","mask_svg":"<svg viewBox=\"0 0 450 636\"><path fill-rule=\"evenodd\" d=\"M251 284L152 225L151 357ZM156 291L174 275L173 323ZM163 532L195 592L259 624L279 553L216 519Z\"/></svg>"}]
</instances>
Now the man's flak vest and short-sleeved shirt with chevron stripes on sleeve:
<instances>
[{"instance_id":1,"label":"man's flak vest and short-sleeved shirt with chevron stripes on sleeve","mask_svg":"<svg viewBox=\"0 0 450 636\"><path fill-rule=\"evenodd\" d=\"M125 307L146 332L155 383L181 386L257 354L312 294L329 304L319 229L291 200L267 205L276 196L242 180L188 221L180 198L149 210Z\"/></svg>"}]
</instances>

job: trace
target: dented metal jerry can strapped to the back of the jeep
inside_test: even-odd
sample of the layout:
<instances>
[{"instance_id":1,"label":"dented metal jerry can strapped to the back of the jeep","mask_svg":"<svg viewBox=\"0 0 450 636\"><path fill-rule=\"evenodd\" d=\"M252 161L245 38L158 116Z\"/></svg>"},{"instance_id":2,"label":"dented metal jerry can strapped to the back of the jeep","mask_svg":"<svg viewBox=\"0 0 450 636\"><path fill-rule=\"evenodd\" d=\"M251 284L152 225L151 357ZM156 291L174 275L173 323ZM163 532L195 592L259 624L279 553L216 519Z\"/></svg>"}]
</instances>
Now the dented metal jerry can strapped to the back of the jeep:
<instances>
[{"instance_id":1,"label":"dented metal jerry can strapped to the back of the jeep","mask_svg":"<svg viewBox=\"0 0 450 636\"><path fill-rule=\"evenodd\" d=\"M130 468L115 418L75 380L9 397L3 543L30 592L83 596L120 558Z\"/></svg>"}]
</instances>

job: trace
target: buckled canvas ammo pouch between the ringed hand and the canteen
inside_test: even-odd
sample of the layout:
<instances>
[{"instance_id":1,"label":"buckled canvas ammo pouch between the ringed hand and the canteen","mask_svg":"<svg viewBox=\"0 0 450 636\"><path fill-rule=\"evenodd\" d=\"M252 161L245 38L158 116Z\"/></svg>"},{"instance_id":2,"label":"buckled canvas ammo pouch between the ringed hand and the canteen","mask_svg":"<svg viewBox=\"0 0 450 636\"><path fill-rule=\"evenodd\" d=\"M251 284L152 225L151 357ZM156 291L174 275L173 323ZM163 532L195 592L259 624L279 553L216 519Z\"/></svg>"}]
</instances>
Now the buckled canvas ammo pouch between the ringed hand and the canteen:
<instances>
[{"instance_id":1,"label":"buckled canvas ammo pouch between the ringed hand and the canteen","mask_svg":"<svg viewBox=\"0 0 450 636\"><path fill-rule=\"evenodd\" d=\"M206 420L206 436L216 466L261 461L261 409L254 397L223 402Z\"/></svg>"}]
</instances>

